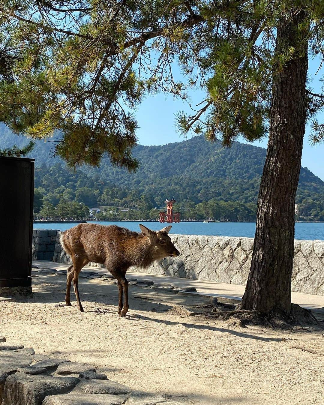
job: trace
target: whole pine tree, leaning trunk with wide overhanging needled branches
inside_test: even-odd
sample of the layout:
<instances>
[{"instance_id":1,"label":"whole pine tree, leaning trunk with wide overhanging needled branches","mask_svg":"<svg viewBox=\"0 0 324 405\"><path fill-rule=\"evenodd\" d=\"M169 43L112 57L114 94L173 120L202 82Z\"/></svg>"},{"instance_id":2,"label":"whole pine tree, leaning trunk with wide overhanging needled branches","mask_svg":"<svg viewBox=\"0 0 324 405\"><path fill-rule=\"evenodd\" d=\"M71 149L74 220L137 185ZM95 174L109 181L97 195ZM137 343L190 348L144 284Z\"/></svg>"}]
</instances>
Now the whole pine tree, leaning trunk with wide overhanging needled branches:
<instances>
[{"instance_id":1,"label":"whole pine tree, leaning trunk with wide overhanging needled branches","mask_svg":"<svg viewBox=\"0 0 324 405\"><path fill-rule=\"evenodd\" d=\"M0 120L33 139L62 136L70 166L136 171L134 109L158 91L205 90L180 131L230 146L269 133L251 272L241 308L291 312L294 200L305 123L324 95L308 86L308 55L324 54L319 1L4 0L0 6ZM173 62L184 82L173 76ZM321 67L322 65L320 65Z\"/></svg>"}]
</instances>

